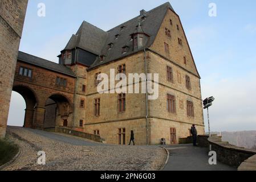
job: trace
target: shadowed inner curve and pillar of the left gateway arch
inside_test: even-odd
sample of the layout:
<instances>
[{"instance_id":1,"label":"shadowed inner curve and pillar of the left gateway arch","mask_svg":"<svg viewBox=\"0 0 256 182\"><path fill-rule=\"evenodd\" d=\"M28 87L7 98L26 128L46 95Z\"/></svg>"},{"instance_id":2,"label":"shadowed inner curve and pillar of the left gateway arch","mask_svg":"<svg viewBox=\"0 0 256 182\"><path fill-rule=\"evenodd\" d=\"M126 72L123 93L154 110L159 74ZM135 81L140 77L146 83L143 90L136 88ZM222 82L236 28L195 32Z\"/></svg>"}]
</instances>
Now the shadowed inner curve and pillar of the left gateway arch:
<instances>
[{"instance_id":1,"label":"shadowed inner curve and pillar of the left gateway arch","mask_svg":"<svg viewBox=\"0 0 256 182\"><path fill-rule=\"evenodd\" d=\"M28 86L16 85L13 91L21 94L26 102L25 119L23 127L32 128L34 125L34 111L38 104L38 99L34 91Z\"/></svg>"}]
</instances>

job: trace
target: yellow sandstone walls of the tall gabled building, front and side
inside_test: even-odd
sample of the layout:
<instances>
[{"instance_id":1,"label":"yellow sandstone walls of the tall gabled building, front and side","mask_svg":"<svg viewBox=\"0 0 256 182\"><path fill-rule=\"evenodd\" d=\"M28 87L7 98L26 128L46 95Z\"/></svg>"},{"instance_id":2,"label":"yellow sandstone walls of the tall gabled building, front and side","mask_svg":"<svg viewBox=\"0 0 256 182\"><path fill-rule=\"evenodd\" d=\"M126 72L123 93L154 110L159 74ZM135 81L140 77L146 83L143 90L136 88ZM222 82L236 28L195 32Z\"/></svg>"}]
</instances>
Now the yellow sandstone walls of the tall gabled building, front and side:
<instances>
[{"instance_id":1,"label":"yellow sandstone walls of the tall gabled building, front and side","mask_svg":"<svg viewBox=\"0 0 256 182\"><path fill-rule=\"evenodd\" d=\"M170 24L172 20L172 25ZM179 30L177 30L177 26ZM171 38L165 34L165 28L171 32ZM178 44L182 39L182 46ZM169 44L169 52L165 52L164 42ZM197 125L198 134L203 135L204 118L202 110L200 76L194 64L192 53L180 22L180 18L172 10L168 10L156 40L147 49L147 72L159 73L159 98L148 101L148 139L149 144L160 144L161 138L170 144L170 129L176 129L176 140L190 135L190 128ZM186 57L186 64L184 63ZM147 144L146 96L145 94L127 94L127 109L124 113L117 112L117 94L99 94L94 85L96 73L107 73L119 65L125 64L128 73L145 73L144 52L118 60L92 71L89 71L87 82L86 124L84 131L93 133L100 130L101 138L107 143L118 144L119 129L125 128L128 142L130 131L135 131L137 144ZM173 82L167 80L166 67L173 69ZM186 88L186 76L190 77L192 89ZM167 94L176 97L176 113L166 108ZM100 98L100 116L94 116L94 99ZM186 102L192 101L194 117L188 117ZM111 113L111 114L109 114Z\"/></svg>"}]
</instances>

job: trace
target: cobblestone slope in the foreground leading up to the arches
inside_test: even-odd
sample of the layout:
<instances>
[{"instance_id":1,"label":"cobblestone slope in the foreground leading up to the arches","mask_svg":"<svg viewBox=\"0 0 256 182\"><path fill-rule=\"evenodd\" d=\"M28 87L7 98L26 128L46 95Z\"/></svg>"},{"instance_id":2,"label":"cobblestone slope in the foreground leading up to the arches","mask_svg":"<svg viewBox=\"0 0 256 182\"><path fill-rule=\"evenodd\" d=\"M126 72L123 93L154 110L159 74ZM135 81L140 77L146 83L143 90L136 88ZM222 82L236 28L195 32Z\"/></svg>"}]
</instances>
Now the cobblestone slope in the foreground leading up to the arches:
<instances>
[{"instance_id":1,"label":"cobblestone slope in the foreground leading up to the arches","mask_svg":"<svg viewBox=\"0 0 256 182\"><path fill-rule=\"evenodd\" d=\"M166 157L164 149L157 146L75 146L21 127L8 127L7 138L21 149L15 163L5 168L7 171L151 171L159 170ZM44 166L37 163L38 151L46 152Z\"/></svg>"}]
</instances>

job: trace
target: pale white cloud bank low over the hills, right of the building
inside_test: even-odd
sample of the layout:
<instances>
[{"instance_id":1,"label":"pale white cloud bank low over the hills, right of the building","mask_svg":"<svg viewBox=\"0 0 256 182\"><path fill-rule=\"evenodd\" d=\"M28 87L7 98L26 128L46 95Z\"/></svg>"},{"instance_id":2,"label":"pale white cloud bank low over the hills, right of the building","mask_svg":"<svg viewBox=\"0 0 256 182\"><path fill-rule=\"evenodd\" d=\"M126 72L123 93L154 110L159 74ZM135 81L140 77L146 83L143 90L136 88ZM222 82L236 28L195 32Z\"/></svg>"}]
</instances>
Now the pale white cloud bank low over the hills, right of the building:
<instances>
[{"instance_id":1,"label":"pale white cloud bank low over the hills, right of the building","mask_svg":"<svg viewBox=\"0 0 256 182\"><path fill-rule=\"evenodd\" d=\"M203 98L214 96L210 107L212 131L256 130L256 72L202 84ZM205 125L208 131L205 111Z\"/></svg>"}]
</instances>

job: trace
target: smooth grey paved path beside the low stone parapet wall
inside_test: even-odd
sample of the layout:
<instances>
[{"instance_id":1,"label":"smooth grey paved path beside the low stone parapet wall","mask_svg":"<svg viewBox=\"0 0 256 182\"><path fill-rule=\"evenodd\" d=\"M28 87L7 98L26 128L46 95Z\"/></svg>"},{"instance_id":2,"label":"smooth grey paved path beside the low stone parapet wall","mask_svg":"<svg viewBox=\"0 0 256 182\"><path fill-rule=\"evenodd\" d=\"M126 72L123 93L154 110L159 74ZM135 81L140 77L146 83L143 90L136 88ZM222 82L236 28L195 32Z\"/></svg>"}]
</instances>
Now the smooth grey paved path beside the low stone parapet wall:
<instances>
[{"instance_id":1,"label":"smooth grey paved path beside the low stone parapet wall","mask_svg":"<svg viewBox=\"0 0 256 182\"><path fill-rule=\"evenodd\" d=\"M169 162L164 171L235 171L236 168L217 162L210 165L208 149L193 147L192 144L165 146L169 151Z\"/></svg>"}]
</instances>

